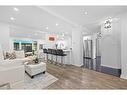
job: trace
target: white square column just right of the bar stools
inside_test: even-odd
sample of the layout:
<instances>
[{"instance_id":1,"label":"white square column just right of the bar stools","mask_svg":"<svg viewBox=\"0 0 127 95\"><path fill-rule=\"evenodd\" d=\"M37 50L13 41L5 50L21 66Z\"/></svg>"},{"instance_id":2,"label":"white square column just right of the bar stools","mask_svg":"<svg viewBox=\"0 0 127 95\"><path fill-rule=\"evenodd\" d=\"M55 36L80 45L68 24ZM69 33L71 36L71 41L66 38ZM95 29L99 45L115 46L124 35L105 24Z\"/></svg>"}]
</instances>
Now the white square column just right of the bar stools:
<instances>
[{"instance_id":1,"label":"white square column just right of the bar stools","mask_svg":"<svg viewBox=\"0 0 127 95\"><path fill-rule=\"evenodd\" d=\"M72 30L72 64L76 66L83 65L83 37L82 29L74 28Z\"/></svg>"}]
</instances>

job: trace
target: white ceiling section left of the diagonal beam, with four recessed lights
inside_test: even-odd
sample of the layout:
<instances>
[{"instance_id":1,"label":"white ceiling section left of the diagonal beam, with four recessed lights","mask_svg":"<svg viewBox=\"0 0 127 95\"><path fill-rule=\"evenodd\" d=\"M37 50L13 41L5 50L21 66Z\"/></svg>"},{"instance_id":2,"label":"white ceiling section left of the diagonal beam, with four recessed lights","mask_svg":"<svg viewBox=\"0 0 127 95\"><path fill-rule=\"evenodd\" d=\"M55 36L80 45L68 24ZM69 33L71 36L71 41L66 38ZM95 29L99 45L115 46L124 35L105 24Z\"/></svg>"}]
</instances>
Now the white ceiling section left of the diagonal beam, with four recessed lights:
<instances>
[{"instance_id":1,"label":"white ceiling section left of the diagonal beam, with four recessed lights","mask_svg":"<svg viewBox=\"0 0 127 95\"><path fill-rule=\"evenodd\" d=\"M14 11L13 8L19 9L18 12ZM10 17L14 17L15 20L10 20ZM51 15L50 13L42 10L37 6L0 6L0 21L14 24L17 26L27 27L33 30L40 30L42 33L50 34L71 34L71 25L64 22L63 20ZM59 25L56 26L56 23ZM49 29L47 30L46 27ZM20 28L21 30L21 28ZM22 33L19 31L11 31L12 37L28 37L28 31ZM32 36L32 31L29 31L31 38L39 38L40 36ZM42 34L43 35L43 34Z\"/></svg>"}]
</instances>

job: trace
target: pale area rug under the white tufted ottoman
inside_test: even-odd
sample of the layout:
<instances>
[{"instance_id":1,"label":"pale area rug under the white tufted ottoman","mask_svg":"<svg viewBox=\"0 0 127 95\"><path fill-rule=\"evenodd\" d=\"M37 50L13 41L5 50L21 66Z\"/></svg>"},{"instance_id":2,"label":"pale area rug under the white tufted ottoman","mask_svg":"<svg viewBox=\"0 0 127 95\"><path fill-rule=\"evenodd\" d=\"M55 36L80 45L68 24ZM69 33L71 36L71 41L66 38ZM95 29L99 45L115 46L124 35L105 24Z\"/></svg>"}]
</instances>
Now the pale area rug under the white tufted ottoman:
<instances>
[{"instance_id":1,"label":"pale area rug under the white tufted ottoman","mask_svg":"<svg viewBox=\"0 0 127 95\"><path fill-rule=\"evenodd\" d=\"M23 89L44 89L56 82L58 78L49 73L36 75L34 78L30 78L25 74L25 84Z\"/></svg>"}]
</instances>

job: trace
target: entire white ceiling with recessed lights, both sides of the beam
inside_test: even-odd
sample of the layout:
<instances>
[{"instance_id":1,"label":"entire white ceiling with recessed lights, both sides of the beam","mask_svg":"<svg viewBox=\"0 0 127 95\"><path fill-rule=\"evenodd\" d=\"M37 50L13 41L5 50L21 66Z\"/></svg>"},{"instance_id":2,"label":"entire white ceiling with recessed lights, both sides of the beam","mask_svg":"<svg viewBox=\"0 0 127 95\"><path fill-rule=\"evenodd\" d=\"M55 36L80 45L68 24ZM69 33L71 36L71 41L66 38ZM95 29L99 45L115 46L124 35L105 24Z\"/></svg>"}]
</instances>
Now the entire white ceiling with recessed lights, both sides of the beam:
<instances>
[{"instance_id":1,"label":"entire white ceiling with recessed lights, both sides of the beam","mask_svg":"<svg viewBox=\"0 0 127 95\"><path fill-rule=\"evenodd\" d=\"M14 7L19 11L14 11ZM93 31L98 29L97 23L104 18L125 12L126 6L0 6L0 21L51 34L64 32L71 35L74 25L85 26ZM10 17L14 17L15 20L10 20ZM56 23L59 25L56 26ZM46 29L47 26L49 29ZM18 31L13 31L11 35L23 37L30 35L27 31ZM33 32L29 32L33 35ZM40 35L43 34L36 35L35 38L42 38Z\"/></svg>"}]
</instances>

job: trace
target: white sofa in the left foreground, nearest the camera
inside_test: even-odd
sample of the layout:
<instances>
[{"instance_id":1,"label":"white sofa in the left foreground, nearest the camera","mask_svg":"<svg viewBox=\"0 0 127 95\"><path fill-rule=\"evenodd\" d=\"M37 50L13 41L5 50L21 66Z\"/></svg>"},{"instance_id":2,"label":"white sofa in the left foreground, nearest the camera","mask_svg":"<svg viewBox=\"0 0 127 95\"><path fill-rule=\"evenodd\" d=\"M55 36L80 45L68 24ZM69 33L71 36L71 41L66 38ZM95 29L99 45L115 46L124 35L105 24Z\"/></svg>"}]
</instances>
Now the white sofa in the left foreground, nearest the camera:
<instances>
[{"instance_id":1,"label":"white sofa in the left foreground, nearest the camera","mask_svg":"<svg viewBox=\"0 0 127 95\"><path fill-rule=\"evenodd\" d=\"M9 88L20 88L24 85L24 65L13 62L0 60L0 85L8 84Z\"/></svg>"}]
</instances>

